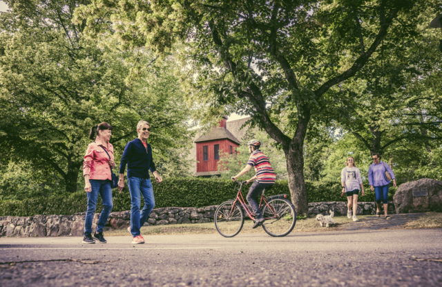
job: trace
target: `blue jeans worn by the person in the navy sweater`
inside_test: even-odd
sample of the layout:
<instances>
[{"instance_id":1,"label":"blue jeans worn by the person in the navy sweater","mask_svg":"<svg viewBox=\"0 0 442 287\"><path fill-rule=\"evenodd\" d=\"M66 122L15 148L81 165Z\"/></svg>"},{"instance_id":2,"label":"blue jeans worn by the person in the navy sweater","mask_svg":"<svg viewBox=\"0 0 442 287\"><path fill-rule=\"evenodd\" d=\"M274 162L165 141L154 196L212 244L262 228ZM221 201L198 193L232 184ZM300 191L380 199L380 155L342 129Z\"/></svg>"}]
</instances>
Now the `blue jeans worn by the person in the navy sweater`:
<instances>
[{"instance_id":1,"label":"blue jeans worn by the person in the navy sweater","mask_svg":"<svg viewBox=\"0 0 442 287\"><path fill-rule=\"evenodd\" d=\"M133 237L140 235L140 228L146 222L149 214L155 207L153 187L150 179L130 177L127 180L131 194L131 233ZM141 197L144 198L144 207L140 215Z\"/></svg>"}]
</instances>

